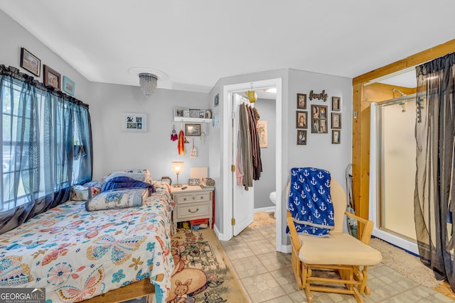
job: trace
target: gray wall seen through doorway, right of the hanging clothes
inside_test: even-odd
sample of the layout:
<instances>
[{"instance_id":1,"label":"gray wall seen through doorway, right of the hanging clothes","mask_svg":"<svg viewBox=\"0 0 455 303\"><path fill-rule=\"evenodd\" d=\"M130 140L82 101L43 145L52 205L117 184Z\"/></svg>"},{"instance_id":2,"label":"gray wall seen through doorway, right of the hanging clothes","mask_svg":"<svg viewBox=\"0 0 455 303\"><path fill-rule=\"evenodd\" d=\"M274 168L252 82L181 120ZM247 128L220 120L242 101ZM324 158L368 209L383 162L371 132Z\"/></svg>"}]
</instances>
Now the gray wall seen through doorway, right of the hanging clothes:
<instances>
[{"instance_id":1,"label":"gray wall seen through doorway, right of the hanging clothes","mask_svg":"<svg viewBox=\"0 0 455 303\"><path fill-rule=\"evenodd\" d=\"M262 174L255 181L255 209L274 206L269 199L269 194L275 192L275 100L258 99L255 108L259 111L261 121L267 121L267 148L261 148Z\"/></svg>"}]
</instances>

